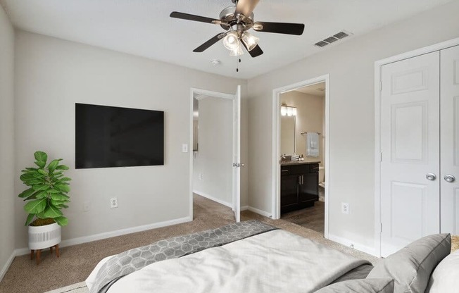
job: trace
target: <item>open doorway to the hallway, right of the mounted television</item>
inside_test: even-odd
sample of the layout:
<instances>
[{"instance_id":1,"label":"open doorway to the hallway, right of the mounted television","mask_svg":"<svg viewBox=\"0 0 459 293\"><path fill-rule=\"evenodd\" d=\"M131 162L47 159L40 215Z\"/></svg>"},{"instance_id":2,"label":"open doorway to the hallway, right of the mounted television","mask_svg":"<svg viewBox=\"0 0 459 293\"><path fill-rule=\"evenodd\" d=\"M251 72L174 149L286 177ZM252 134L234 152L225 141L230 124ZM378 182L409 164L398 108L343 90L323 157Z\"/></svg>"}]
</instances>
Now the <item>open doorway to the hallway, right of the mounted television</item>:
<instances>
[{"instance_id":1,"label":"open doorway to the hallway, right of the mounted television","mask_svg":"<svg viewBox=\"0 0 459 293\"><path fill-rule=\"evenodd\" d=\"M239 164L233 163L240 152L239 92L240 87L236 94L191 89L192 216L200 211L239 221Z\"/></svg>"}]
</instances>

